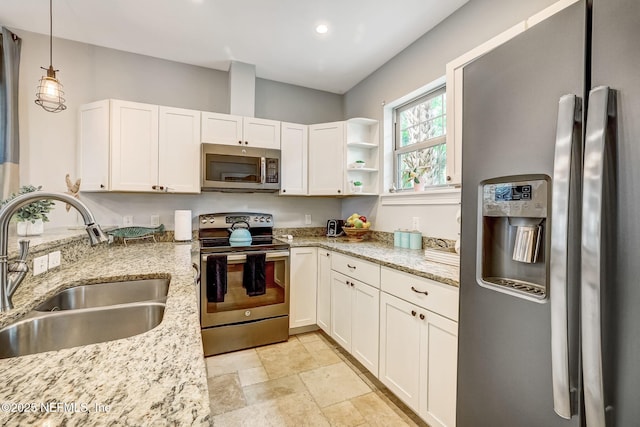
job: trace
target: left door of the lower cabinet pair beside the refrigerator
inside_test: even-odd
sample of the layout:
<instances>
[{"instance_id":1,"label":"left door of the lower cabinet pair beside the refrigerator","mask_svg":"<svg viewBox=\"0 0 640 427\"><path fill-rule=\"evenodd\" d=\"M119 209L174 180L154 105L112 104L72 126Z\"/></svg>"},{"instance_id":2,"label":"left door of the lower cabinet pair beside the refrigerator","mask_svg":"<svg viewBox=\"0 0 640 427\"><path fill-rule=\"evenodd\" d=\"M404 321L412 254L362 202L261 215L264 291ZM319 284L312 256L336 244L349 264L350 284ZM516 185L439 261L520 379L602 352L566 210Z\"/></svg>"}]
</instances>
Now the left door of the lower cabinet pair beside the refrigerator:
<instances>
[{"instance_id":1,"label":"left door of the lower cabinet pair beside the refrigerator","mask_svg":"<svg viewBox=\"0 0 640 427\"><path fill-rule=\"evenodd\" d=\"M423 330L417 307L382 293L379 378L416 412L420 410L420 342Z\"/></svg>"}]
</instances>

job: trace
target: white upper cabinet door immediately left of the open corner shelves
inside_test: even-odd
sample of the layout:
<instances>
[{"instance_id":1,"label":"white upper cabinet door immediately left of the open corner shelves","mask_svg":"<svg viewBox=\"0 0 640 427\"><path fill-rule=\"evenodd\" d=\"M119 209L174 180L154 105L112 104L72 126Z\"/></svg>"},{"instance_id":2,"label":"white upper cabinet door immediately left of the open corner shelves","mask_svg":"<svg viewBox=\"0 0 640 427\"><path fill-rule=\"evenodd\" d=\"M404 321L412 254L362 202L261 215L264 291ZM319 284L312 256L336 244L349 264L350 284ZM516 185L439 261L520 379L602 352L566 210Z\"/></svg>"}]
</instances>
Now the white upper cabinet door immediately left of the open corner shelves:
<instances>
[{"instance_id":1,"label":"white upper cabinet door immediately left of the open corner shelves","mask_svg":"<svg viewBox=\"0 0 640 427\"><path fill-rule=\"evenodd\" d=\"M309 126L309 194L344 194L344 122Z\"/></svg>"}]
</instances>

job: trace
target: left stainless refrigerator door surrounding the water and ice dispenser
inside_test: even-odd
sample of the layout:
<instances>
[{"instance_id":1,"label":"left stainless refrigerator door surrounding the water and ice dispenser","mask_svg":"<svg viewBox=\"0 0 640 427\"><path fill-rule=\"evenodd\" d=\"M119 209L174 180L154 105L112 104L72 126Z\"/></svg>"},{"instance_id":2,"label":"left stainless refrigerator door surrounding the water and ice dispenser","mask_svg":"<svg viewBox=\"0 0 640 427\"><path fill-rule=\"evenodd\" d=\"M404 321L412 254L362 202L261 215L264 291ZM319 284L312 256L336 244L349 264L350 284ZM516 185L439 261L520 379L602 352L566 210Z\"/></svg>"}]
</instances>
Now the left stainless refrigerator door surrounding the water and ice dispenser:
<instances>
[{"instance_id":1,"label":"left stainless refrigerator door surrounding the water and ice dispenser","mask_svg":"<svg viewBox=\"0 0 640 427\"><path fill-rule=\"evenodd\" d=\"M539 303L479 286L476 259L480 183L501 176L553 175L558 100L583 93L584 27L585 4L578 2L464 70L460 427L580 425L579 416L567 420L554 412L548 298ZM568 241L579 242L579 229L569 230ZM548 261L550 242L543 243ZM575 398L579 331L574 263L569 262L567 278L567 357ZM546 275L548 283L548 271Z\"/></svg>"}]
</instances>

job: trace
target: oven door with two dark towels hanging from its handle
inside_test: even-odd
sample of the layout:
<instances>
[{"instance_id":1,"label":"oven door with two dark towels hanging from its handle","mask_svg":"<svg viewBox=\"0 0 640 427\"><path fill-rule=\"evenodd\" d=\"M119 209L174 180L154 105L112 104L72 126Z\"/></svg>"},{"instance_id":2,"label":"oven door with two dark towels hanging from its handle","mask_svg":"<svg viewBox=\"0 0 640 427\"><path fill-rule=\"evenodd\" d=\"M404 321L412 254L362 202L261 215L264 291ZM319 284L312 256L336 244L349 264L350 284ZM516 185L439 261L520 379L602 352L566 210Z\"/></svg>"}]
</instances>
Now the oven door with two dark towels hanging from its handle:
<instances>
[{"instance_id":1,"label":"oven door with two dark towels hanging from its handle","mask_svg":"<svg viewBox=\"0 0 640 427\"><path fill-rule=\"evenodd\" d=\"M255 261L248 260L252 254L264 254L264 265L252 264ZM224 264L226 269L221 271ZM256 269L264 275L253 274ZM289 314L288 250L202 253L200 272L203 328Z\"/></svg>"}]
</instances>

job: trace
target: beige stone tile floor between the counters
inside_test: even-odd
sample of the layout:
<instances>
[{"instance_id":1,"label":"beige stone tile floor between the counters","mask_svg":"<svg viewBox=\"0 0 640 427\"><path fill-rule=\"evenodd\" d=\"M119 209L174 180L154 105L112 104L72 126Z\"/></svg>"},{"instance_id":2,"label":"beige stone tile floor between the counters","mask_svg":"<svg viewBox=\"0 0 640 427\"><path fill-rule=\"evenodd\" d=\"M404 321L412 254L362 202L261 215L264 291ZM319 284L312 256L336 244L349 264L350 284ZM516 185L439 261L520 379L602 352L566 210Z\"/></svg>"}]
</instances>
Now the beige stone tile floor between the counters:
<instances>
[{"instance_id":1,"label":"beige stone tile floor between the counters","mask_svg":"<svg viewBox=\"0 0 640 427\"><path fill-rule=\"evenodd\" d=\"M426 426L322 332L206 363L215 426Z\"/></svg>"}]
</instances>

